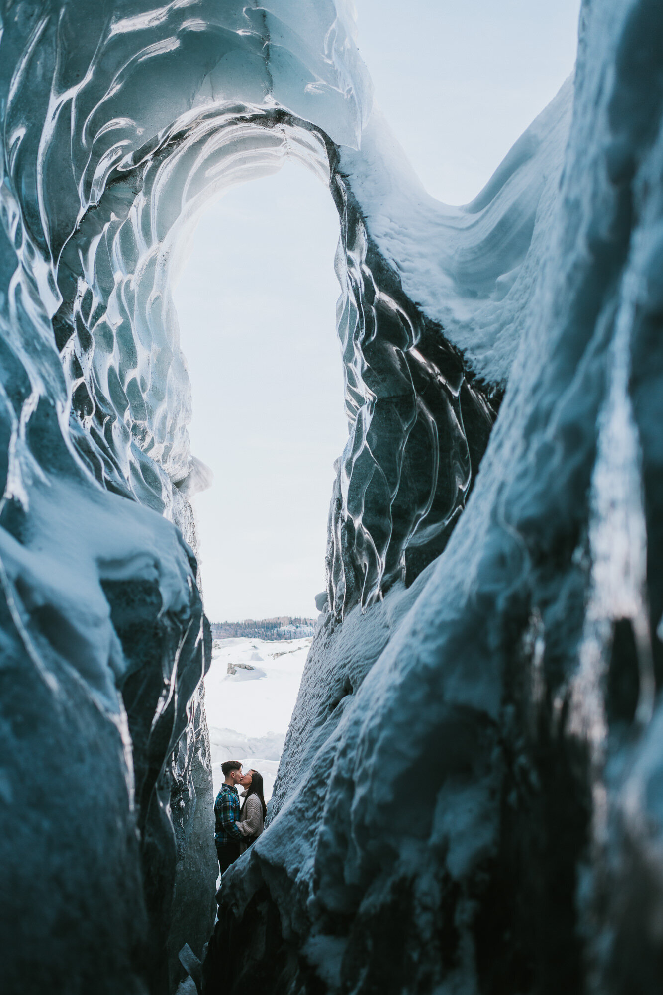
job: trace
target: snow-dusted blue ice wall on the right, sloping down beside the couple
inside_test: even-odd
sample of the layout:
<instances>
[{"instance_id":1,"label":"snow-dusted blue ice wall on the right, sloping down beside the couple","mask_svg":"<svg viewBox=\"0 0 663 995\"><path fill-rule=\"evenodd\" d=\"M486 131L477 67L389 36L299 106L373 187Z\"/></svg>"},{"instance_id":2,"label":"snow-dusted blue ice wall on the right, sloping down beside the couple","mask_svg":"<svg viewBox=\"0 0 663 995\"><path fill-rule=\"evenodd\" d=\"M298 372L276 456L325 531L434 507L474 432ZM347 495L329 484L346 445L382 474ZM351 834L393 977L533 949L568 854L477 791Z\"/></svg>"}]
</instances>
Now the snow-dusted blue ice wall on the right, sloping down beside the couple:
<instances>
[{"instance_id":1,"label":"snow-dusted blue ice wall on the right, sloping down beside the couple","mask_svg":"<svg viewBox=\"0 0 663 995\"><path fill-rule=\"evenodd\" d=\"M585 2L574 79L457 214L380 176L370 123L343 150L506 391L442 554L321 621L210 992L660 989L662 43L660 4Z\"/></svg>"}]
</instances>

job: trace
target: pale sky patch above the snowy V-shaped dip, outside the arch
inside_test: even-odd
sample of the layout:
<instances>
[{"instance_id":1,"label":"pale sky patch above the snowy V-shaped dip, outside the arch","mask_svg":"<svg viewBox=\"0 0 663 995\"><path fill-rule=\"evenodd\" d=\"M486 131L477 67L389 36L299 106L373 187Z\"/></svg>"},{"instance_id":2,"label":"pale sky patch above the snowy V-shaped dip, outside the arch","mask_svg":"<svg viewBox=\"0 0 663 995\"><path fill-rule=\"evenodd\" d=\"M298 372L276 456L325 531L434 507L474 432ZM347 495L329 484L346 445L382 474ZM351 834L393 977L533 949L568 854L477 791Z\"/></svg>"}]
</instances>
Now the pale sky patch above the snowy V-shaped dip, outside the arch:
<instances>
[{"instance_id":1,"label":"pale sky patch above the snowy V-shaped dip, outside the arch","mask_svg":"<svg viewBox=\"0 0 663 995\"><path fill-rule=\"evenodd\" d=\"M354 0L375 99L424 186L467 204L572 72L579 0Z\"/></svg>"}]
</instances>

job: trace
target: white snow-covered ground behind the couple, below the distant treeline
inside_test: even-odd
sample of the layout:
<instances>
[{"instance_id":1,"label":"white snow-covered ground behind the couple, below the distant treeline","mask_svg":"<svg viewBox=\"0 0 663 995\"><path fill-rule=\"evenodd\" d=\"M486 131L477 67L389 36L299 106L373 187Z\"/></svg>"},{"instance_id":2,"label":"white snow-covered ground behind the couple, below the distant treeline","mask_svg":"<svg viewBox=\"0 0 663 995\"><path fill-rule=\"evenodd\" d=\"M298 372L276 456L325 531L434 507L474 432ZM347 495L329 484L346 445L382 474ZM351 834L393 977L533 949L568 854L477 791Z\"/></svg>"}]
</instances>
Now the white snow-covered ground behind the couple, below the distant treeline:
<instances>
[{"instance_id":1,"label":"white snow-covered ground behind the couple, below the distant treeline","mask_svg":"<svg viewBox=\"0 0 663 995\"><path fill-rule=\"evenodd\" d=\"M265 801L272 789L284 739L302 681L311 638L267 642L214 642L205 678L205 708L212 750L214 793L223 782L224 760L259 770ZM250 668L250 669L248 669ZM235 673L229 673L234 670Z\"/></svg>"}]
</instances>

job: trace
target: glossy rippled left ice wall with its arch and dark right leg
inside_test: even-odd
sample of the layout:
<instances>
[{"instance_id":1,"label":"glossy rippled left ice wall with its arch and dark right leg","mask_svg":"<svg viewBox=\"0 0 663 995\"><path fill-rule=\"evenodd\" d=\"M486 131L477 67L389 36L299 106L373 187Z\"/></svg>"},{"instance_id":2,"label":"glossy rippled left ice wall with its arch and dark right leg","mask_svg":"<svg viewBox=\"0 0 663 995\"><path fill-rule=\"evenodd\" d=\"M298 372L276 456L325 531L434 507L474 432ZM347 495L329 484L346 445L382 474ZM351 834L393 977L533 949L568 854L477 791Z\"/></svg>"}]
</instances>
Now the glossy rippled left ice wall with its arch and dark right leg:
<instances>
[{"instance_id":1,"label":"glossy rippled left ice wall with its arch and dark right leg","mask_svg":"<svg viewBox=\"0 0 663 995\"><path fill-rule=\"evenodd\" d=\"M342 5L0 16L4 980L160 992L184 942L201 953L216 871L188 503L205 468L169 295L198 211L286 156L338 204L337 619L434 558L493 392L402 291L342 171L371 116Z\"/></svg>"}]
</instances>

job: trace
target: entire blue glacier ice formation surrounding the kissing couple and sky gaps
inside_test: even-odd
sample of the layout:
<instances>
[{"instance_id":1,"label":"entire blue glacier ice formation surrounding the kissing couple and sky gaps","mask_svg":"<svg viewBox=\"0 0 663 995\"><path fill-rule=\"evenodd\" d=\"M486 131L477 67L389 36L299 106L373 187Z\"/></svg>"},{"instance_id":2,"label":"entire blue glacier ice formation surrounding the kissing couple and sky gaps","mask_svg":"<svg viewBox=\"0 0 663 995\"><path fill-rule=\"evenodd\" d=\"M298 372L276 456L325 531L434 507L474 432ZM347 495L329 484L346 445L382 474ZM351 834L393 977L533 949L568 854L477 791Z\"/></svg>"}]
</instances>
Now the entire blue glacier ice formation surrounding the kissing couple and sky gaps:
<instances>
[{"instance_id":1,"label":"entire blue glacier ice formation surrounding the kissing couple and sky gaps","mask_svg":"<svg viewBox=\"0 0 663 995\"><path fill-rule=\"evenodd\" d=\"M573 76L464 207L351 8L0 4L8 995L661 990L663 7L583 0ZM171 287L208 199L293 158L338 212L348 438L215 925Z\"/></svg>"}]
</instances>

